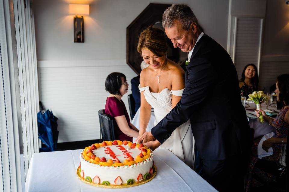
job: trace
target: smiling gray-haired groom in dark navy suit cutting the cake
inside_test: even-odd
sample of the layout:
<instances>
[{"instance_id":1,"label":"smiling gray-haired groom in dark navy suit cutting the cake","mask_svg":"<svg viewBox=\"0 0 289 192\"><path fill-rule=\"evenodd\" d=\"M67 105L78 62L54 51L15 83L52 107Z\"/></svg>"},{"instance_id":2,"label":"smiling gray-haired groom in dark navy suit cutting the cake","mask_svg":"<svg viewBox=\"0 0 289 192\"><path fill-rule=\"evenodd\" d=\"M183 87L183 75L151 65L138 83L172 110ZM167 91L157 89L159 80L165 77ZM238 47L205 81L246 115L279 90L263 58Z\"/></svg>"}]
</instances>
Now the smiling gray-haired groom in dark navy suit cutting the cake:
<instances>
[{"instance_id":1,"label":"smiling gray-haired groom in dark navy suit cutting the cake","mask_svg":"<svg viewBox=\"0 0 289 192\"><path fill-rule=\"evenodd\" d=\"M187 5L168 7L163 13L163 27L174 47L188 52L185 90L176 107L137 142L163 143L191 119L202 166L200 175L219 191L242 191L250 127L230 55L200 31Z\"/></svg>"}]
</instances>

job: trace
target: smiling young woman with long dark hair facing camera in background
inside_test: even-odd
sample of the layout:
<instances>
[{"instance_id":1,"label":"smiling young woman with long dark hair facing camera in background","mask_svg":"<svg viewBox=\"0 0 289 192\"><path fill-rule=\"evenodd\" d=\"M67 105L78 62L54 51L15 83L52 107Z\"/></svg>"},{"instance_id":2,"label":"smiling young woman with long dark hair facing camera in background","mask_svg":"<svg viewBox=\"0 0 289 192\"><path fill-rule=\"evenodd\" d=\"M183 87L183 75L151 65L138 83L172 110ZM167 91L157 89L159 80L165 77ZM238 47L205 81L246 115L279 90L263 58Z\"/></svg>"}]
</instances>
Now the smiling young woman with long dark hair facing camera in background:
<instances>
[{"instance_id":1,"label":"smiling young woman with long dark hair facing camera in background","mask_svg":"<svg viewBox=\"0 0 289 192\"><path fill-rule=\"evenodd\" d=\"M242 72L241 79L239 80L239 87L241 95L248 98L250 93L258 91L258 71L256 65L253 63L247 64Z\"/></svg>"}]
</instances>

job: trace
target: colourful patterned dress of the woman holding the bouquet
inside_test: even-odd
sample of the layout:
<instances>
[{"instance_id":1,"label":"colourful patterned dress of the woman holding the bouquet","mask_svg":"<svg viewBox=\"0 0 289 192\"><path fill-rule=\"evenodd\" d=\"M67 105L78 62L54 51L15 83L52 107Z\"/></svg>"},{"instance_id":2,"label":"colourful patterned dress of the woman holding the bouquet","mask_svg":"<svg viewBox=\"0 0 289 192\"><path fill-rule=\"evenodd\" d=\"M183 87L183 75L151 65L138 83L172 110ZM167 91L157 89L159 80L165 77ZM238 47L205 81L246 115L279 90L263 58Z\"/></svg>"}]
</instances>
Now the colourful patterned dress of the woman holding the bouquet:
<instances>
[{"instance_id":1,"label":"colourful patterned dress of the woman holding the bouquet","mask_svg":"<svg viewBox=\"0 0 289 192\"><path fill-rule=\"evenodd\" d=\"M280 110L280 113L278 114L278 116L275 118L274 120L274 124L275 124L275 128L276 128L276 134L273 137L278 137L278 138L282 138L282 137L287 137L288 134L288 129L289 129L289 124L287 122L285 122L284 118L285 118L285 114L287 113L287 111L289 110L289 107L285 108L284 107ZM258 185L256 182L256 180L252 180L252 172L254 172L254 174L258 175L259 178L262 178L263 181L265 182L271 182L273 179L273 175L266 173L256 167L255 164L258 161L258 157L257 157L257 148L258 148L258 144L260 142L261 138L256 138L254 139L254 144L252 146L252 151L251 151L251 156L250 156L250 163L249 163L249 168L248 168L248 173L246 176L246 181L245 181L245 191L248 192L250 191L251 186L254 185ZM273 148L273 154L267 157L263 157L263 160L266 161L272 161L272 162L277 162L278 157L280 155L280 152L282 150L282 145L281 144L273 144L272 148Z\"/></svg>"}]
</instances>

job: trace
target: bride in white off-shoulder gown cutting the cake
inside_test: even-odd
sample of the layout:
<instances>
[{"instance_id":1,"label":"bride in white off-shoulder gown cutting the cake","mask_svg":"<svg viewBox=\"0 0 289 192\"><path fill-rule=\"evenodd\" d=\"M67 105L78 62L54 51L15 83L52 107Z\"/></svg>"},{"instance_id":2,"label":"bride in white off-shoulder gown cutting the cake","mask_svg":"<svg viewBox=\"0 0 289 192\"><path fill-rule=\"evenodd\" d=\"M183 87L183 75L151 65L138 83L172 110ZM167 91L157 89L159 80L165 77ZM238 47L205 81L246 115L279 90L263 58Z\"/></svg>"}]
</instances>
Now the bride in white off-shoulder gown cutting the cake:
<instances>
[{"instance_id":1,"label":"bride in white off-shoulder gown cutting the cake","mask_svg":"<svg viewBox=\"0 0 289 192\"><path fill-rule=\"evenodd\" d=\"M157 125L180 101L185 88L185 72L178 64L166 58L166 36L160 29L148 27L142 31L137 50L149 64L140 75L139 138L146 131L151 117L151 107L154 108L154 125ZM160 143L157 140L149 144L151 149L156 149L158 146ZM161 148L170 150L193 168L194 137L190 120L177 128Z\"/></svg>"}]
</instances>

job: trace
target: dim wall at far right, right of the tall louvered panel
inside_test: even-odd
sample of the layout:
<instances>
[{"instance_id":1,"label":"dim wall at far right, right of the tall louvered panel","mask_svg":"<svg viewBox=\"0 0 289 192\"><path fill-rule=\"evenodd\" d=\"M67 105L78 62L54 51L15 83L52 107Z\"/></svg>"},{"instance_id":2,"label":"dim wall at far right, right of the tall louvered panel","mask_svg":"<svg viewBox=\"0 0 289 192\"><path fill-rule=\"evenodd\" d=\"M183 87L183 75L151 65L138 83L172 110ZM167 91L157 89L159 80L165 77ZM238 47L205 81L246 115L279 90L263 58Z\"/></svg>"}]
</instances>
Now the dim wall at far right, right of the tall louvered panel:
<instances>
[{"instance_id":1,"label":"dim wall at far right, right of the tall louvered panel","mask_svg":"<svg viewBox=\"0 0 289 192\"><path fill-rule=\"evenodd\" d=\"M269 91L278 75L289 73L289 5L267 0L259 88Z\"/></svg>"}]
</instances>

